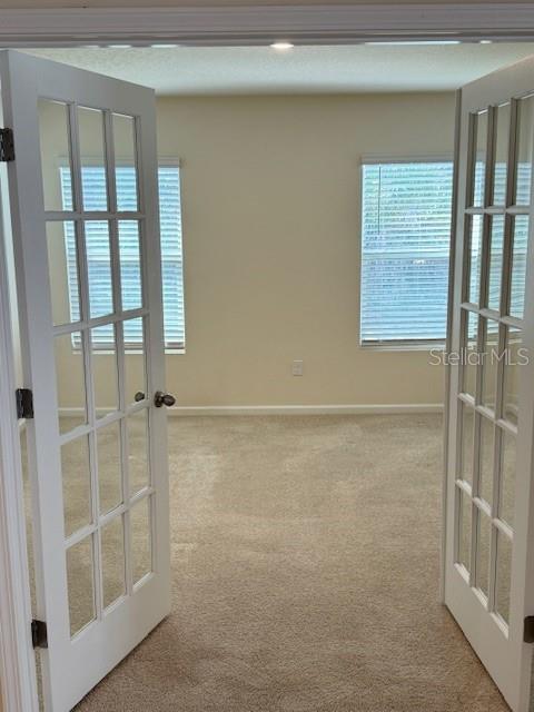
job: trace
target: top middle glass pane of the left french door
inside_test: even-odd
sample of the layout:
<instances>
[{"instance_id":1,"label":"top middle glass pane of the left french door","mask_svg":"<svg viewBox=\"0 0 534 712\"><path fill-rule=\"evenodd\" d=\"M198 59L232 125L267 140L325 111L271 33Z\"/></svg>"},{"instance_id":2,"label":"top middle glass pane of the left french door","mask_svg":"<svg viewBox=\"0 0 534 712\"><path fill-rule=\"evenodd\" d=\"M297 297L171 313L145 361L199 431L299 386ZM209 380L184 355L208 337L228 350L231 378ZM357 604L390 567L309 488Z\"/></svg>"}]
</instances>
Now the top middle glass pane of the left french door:
<instances>
[{"instance_id":1,"label":"top middle glass pane of the left french door","mask_svg":"<svg viewBox=\"0 0 534 712\"><path fill-rule=\"evenodd\" d=\"M81 186L85 210L107 210L103 111L78 107Z\"/></svg>"}]
</instances>

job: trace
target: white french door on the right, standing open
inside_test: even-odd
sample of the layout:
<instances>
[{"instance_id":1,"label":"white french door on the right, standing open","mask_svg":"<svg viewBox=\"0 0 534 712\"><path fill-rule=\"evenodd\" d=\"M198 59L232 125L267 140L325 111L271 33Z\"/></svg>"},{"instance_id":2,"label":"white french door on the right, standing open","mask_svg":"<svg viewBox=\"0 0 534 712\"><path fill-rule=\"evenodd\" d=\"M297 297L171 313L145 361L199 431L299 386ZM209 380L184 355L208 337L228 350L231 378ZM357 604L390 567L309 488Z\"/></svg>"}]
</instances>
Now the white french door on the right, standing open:
<instances>
[{"instance_id":1,"label":"white french door on the right, standing open","mask_svg":"<svg viewBox=\"0 0 534 712\"><path fill-rule=\"evenodd\" d=\"M445 603L514 712L534 615L534 58L461 96Z\"/></svg>"}]
</instances>

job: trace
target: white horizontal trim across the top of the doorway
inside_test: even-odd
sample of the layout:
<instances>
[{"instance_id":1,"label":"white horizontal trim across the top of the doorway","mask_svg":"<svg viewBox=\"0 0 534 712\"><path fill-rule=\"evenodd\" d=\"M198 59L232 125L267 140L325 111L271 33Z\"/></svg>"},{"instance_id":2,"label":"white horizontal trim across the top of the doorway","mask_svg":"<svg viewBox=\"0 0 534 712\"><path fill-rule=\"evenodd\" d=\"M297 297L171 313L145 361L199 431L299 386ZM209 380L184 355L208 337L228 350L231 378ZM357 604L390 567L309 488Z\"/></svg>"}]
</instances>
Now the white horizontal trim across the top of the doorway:
<instances>
[{"instance_id":1,"label":"white horizontal trim across the top of the doorway","mask_svg":"<svg viewBox=\"0 0 534 712\"><path fill-rule=\"evenodd\" d=\"M0 9L3 47L534 39L534 3Z\"/></svg>"}]
</instances>

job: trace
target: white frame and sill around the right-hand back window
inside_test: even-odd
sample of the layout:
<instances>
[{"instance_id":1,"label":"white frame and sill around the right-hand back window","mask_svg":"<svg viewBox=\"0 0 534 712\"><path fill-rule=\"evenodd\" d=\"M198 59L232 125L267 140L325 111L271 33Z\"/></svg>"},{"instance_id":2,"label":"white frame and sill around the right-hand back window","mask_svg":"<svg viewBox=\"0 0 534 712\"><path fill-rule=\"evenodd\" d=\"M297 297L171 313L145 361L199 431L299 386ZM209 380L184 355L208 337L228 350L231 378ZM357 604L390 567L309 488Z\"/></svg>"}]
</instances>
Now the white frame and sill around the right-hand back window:
<instances>
[{"instance_id":1,"label":"white frame and sill around the right-hand back window","mask_svg":"<svg viewBox=\"0 0 534 712\"><path fill-rule=\"evenodd\" d=\"M363 295L363 274L364 274L364 167L377 166L382 164L451 164L452 174L454 174L454 156L453 154L417 154L417 155L398 155L388 154L364 154L359 157L359 264L358 264L358 347L369 352L431 352L445 350L446 335L443 338L422 338L422 339L376 339L374 342L364 342L362 339L362 295ZM453 187L454 175L452 176ZM451 209L451 235L449 235L449 254L452 226L453 226L453 200ZM448 263L447 263L448 264ZM451 279L451 274L448 275Z\"/></svg>"}]
</instances>

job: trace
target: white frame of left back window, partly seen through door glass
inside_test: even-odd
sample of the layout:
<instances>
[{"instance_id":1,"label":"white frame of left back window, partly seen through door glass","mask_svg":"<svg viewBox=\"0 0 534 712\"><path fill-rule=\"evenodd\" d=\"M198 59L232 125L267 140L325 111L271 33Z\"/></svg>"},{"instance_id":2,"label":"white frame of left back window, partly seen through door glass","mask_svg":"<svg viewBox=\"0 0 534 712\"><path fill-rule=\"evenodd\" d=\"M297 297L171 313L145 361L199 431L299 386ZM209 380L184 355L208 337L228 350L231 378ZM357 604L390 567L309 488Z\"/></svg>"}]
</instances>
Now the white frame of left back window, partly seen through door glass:
<instances>
[{"instance_id":1,"label":"white frame of left back window, partly seen through door glass","mask_svg":"<svg viewBox=\"0 0 534 712\"><path fill-rule=\"evenodd\" d=\"M83 156L83 162L87 166L101 166L102 164L102 159L101 157L96 157L96 156ZM121 159L116 158L116 166L120 166L120 167L130 167L134 166L131 160L126 160L126 159ZM61 185L61 170L62 169L68 169L70 167L70 160L67 156L59 156L57 161L56 161L56 168L57 168L57 175L59 177L59 192L62 192L62 185ZM164 312L164 349L165 349L165 355L167 356L172 356L172 355L178 355L178 356L184 356L186 354L186 275L185 275L185 270L184 270L184 202L182 202L182 172L181 169L184 167L182 164L182 159L181 158L171 158L169 156L166 157L158 157L158 170L159 168L178 168L179 171L179 177L178 177L178 201L179 201L179 206L180 206L180 225L181 225L181 233L180 233L180 243L181 243L181 265L182 265L182 270L181 270L181 298L182 298L182 303L184 303L184 344L179 344L179 343L172 343L171 345L167 346L165 344L165 312ZM159 176L158 176L159 178ZM161 227L161 226L160 226ZM67 253L66 253L67 256ZM162 266L162 253L161 253L161 266ZM162 280L161 280L161 299L164 296L164 291L162 291ZM69 299L70 299L70 291L69 291ZM161 309L164 310L164 303L161 300ZM80 347L76 344L72 344L72 350L73 352L79 352ZM96 347L93 348L95 355L102 355L102 356L109 356L109 355L113 355L115 350L111 350L110 348L108 348L107 346L102 346L102 347ZM136 354L142 354L142 349L137 348L135 345L127 345L125 343L125 352L131 355L136 355Z\"/></svg>"}]
</instances>

